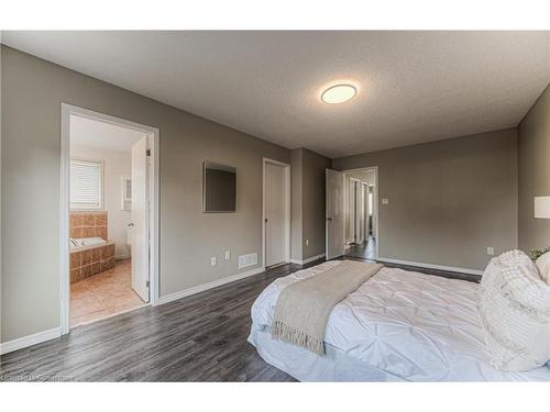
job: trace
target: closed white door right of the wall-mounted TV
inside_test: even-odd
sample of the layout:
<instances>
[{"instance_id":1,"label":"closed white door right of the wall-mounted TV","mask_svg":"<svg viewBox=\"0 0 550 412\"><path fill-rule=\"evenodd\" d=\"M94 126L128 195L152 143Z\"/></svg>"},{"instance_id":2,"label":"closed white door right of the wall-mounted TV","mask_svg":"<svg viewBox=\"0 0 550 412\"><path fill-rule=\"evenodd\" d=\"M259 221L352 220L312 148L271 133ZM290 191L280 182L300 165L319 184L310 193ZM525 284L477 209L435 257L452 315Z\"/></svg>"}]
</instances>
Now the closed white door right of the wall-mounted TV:
<instances>
[{"instance_id":1,"label":"closed white door right of the wall-mounted TV","mask_svg":"<svg viewBox=\"0 0 550 412\"><path fill-rule=\"evenodd\" d=\"M265 164L265 266L286 260L286 167Z\"/></svg>"}]
</instances>

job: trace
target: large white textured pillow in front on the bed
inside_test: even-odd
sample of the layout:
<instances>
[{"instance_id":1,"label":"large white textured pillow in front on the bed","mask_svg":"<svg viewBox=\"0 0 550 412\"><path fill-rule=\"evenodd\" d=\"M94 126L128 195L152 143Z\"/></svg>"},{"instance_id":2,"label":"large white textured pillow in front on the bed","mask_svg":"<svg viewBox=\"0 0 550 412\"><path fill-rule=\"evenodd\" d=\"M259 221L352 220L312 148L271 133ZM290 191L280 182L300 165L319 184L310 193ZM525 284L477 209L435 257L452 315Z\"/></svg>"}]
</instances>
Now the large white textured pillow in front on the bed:
<instances>
[{"instance_id":1,"label":"large white textured pillow in front on the bed","mask_svg":"<svg viewBox=\"0 0 550 412\"><path fill-rule=\"evenodd\" d=\"M550 359L550 287L520 250L491 260L481 283L480 315L491 363L525 371Z\"/></svg>"}]
</instances>

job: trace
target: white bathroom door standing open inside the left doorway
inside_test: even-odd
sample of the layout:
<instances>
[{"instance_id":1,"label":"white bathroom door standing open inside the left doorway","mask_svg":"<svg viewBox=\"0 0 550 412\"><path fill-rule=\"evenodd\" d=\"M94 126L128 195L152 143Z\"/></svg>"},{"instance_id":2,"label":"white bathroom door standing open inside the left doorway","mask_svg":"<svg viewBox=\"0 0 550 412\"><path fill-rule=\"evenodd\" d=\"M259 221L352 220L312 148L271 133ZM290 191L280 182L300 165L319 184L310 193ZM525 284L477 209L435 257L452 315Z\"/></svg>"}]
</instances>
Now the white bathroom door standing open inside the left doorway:
<instances>
[{"instance_id":1,"label":"white bathroom door standing open inside the left doorway","mask_svg":"<svg viewBox=\"0 0 550 412\"><path fill-rule=\"evenodd\" d=\"M132 146L132 288L148 302L148 193L145 136Z\"/></svg>"}]
</instances>

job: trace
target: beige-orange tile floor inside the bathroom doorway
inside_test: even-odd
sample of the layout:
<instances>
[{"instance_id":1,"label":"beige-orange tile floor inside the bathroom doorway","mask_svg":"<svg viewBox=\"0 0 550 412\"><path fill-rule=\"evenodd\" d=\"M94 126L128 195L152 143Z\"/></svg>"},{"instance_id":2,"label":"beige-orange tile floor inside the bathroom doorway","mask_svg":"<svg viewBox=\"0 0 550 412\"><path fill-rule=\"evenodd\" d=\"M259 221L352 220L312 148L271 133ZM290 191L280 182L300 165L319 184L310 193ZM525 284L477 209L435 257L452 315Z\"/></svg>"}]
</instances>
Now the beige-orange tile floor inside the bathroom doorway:
<instances>
[{"instance_id":1,"label":"beige-orange tile floor inside the bathroom doorway","mask_svg":"<svg viewBox=\"0 0 550 412\"><path fill-rule=\"evenodd\" d=\"M70 285L70 327L143 305L132 289L130 259Z\"/></svg>"}]
</instances>

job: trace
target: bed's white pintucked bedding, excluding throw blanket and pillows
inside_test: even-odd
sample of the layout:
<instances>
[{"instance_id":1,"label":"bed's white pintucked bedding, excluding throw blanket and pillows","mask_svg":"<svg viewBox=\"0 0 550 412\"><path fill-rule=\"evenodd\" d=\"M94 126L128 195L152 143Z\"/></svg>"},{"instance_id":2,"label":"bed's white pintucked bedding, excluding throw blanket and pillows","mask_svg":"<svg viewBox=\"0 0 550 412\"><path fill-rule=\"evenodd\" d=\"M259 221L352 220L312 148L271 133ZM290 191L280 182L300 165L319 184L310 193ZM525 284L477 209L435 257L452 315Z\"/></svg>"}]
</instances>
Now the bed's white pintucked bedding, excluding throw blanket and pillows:
<instances>
[{"instance_id":1,"label":"bed's white pintucked bedding, excluding throw blanket and pillows","mask_svg":"<svg viewBox=\"0 0 550 412\"><path fill-rule=\"evenodd\" d=\"M249 342L300 381L550 381L550 368L491 366L479 314L480 285L383 267L334 305L324 355L271 336L280 291L341 264L276 279L252 305Z\"/></svg>"}]
</instances>

